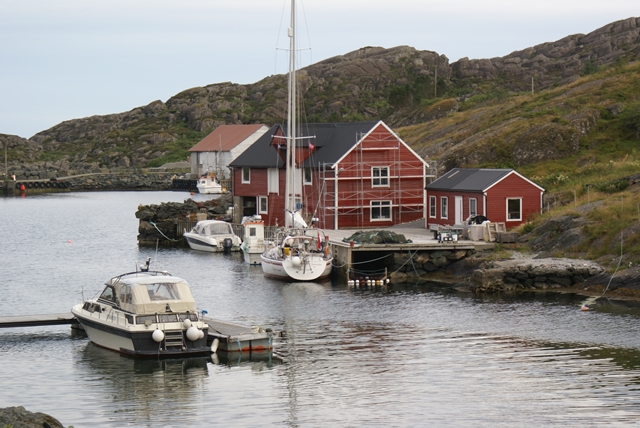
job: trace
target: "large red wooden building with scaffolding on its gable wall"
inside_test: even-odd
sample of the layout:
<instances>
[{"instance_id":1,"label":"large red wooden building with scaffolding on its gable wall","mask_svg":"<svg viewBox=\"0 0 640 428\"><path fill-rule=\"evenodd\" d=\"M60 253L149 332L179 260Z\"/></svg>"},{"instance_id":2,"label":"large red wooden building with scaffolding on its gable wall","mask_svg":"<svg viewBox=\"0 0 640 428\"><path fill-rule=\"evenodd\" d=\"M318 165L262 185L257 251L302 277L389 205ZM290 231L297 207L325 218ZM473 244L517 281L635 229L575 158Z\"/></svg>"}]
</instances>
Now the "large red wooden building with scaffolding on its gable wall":
<instances>
[{"instance_id":1,"label":"large red wooden building with scaffolding on its gable wall","mask_svg":"<svg viewBox=\"0 0 640 428\"><path fill-rule=\"evenodd\" d=\"M285 130L273 126L231 163L240 217L284 224ZM384 122L303 124L297 208L323 229L384 228L424 218L427 163Z\"/></svg>"}]
</instances>

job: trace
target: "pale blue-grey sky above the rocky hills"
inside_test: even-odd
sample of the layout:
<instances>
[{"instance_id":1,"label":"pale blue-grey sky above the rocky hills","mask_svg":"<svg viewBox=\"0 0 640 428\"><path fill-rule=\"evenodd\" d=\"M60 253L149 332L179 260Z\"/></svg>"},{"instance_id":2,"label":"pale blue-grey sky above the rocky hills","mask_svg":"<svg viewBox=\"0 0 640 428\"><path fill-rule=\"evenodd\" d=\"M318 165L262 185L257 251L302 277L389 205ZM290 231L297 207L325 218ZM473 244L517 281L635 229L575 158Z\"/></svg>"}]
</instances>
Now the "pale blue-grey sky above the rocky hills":
<instances>
[{"instance_id":1,"label":"pale blue-grey sky above the rocky hills","mask_svg":"<svg viewBox=\"0 0 640 428\"><path fill-rule=\"evenodd\" d=\"M290 0L2 0L0 134L286 73ZM300 67L366 46L493 58L640 16L638 0L298 0Z\"/></svg>"}]
</instances>

